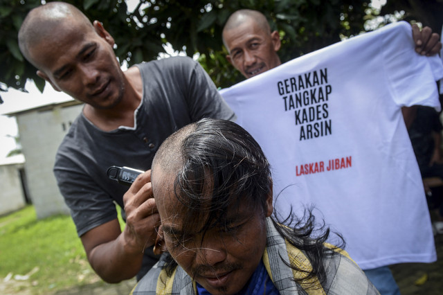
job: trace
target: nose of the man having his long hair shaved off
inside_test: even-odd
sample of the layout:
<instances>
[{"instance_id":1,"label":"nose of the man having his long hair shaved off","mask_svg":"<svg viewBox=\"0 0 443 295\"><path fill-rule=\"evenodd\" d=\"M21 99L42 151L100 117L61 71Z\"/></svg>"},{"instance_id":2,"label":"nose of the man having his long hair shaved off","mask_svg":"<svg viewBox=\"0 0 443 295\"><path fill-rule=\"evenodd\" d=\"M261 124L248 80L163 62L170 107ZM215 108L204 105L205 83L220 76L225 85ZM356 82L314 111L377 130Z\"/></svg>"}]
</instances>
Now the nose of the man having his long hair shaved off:
<instances>
[{"instance_id":1,"label":"nose of the man having his long hair shaved off","mask_svg":"<svg viewBox=\"0 0 443 295\"><path fill-rule=\"evenodd\" d=\"M226 248L220 238L206 237L197 251L197 265L217 265L226 259Z\"/></svg>"}]
</instances>

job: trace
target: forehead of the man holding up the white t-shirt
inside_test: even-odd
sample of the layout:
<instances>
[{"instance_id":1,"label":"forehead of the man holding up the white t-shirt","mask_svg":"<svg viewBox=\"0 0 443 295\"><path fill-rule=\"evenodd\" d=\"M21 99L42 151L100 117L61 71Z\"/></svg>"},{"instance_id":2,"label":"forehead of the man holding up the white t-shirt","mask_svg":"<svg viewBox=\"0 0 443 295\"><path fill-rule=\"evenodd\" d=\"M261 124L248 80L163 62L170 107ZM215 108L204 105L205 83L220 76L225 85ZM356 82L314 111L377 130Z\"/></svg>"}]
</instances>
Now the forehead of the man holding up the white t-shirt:
<instances>
[{"instance_id":1,"label":"forehead of the man holding up the white t-shirt","mask_svg":"<svg viewBox=\"0 0 443 295\"><path fill-rule=\"evenodd\" d=\"M236 28L226 30L224 32L224 40L228 50L241 47L254 39L264 40L270 37L270 33L264 31L263 28L251 18L245 19L242 24Z\"/></svg>"}]
</instances>

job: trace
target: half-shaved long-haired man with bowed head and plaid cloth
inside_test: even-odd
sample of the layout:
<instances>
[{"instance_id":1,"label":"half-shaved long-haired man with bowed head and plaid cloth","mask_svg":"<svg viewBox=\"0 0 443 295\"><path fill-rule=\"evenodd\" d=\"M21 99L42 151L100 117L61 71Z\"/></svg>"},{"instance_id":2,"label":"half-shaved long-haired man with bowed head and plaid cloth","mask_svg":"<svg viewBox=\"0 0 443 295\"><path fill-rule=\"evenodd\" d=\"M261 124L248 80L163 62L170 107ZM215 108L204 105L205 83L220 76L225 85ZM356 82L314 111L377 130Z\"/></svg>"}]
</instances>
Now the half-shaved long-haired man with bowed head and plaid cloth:
<instances>
[{"instance_id":1,"label":"half-shaved long-haired man with bowed head and plaid cloth","mask_svg":"<svg viewBox=\"0 0 443 295\"><path fill-rule=\"evenodd\" d=\"M133 294L378 294L347 253L273 213L269 163L239 125L179 129L152 163L161 260Z\"/></svg>"}]
</instances>

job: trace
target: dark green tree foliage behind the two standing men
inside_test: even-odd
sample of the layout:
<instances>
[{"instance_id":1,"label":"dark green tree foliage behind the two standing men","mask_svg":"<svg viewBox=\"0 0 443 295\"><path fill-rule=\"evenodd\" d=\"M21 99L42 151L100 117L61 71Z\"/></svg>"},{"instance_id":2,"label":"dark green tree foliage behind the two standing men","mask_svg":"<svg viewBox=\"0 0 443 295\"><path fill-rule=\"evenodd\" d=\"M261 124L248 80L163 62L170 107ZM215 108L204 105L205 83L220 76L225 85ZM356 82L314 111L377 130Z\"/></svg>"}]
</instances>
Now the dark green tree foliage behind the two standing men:
<instances>
[{"instance_id":1,"label":"dark green tree foliage behind the two standing men","mask_svg":"<svg viewBox=\"0 0 443 295\"><path fill-rule=\"evenodd\" d=\"M139 0L133 12L124 0L67 0L89 19L97 19L114 37L116 55L129 66L156 59L171 44L186 55L199 54L199 62L217 87L228 87L242 76L226 61L221 30L229 15L241 8L260 10L271 29L282 38L282 62L365 31L365 21L377 17L370 0ZM419 13L415 11L420 2ZM24 90L31 79L42 91L44 80L19 51L17 33L28 11L42 0L0 0L0 90ZM418 3L418 4L417 4ZM431 8L431 3L433 4ZM427 9L427 7L431 8ZM438 9L437 9L438 8ZM442 4L435 1L388 1L383 13L405 10L405 17L428 24L441 19ZM440 9L440 10L439 10ZM418 11L418 10L417 10ZM435 17L429 15L435 13ZM385 20L389 21L389 20ZM438 23L438 21L434 21ZM431 24L428 24L431 26ZM432 24L433 31L440 28ZM57 36L54 36L57 37Z\"/></svg>"}]
</instances>

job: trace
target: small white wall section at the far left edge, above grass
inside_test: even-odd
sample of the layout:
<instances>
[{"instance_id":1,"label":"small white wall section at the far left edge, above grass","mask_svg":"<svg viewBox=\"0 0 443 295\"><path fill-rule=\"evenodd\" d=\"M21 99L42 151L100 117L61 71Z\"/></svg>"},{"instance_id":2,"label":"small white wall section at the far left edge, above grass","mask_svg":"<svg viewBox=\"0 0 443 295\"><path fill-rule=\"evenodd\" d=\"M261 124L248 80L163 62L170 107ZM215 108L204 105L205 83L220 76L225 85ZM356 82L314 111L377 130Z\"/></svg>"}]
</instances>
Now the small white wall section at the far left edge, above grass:
<instances>
[{"instance_id":1,"label":"small white wall section at the far left edge, above grass","mask_svg":"<svg viewBox=\"0 0 443 295\"><path fill-rule=\"evenodd\" d=\"M19 169L23 163L0 165L0 215L16 211L26 205Z\"/></svg>"}]
</instances>

